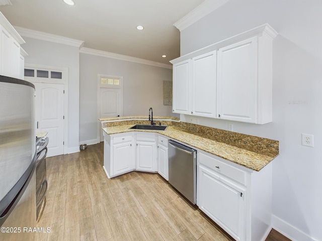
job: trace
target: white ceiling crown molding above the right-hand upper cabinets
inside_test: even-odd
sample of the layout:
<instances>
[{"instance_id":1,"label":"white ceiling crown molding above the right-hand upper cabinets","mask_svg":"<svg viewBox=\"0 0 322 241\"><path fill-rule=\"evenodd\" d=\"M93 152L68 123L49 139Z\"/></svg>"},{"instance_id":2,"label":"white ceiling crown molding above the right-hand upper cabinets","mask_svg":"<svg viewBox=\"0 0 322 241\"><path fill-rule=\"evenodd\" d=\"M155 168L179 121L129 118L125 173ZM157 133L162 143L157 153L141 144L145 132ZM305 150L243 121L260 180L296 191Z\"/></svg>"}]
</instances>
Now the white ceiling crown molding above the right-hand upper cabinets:
<instances>
[{"instance_id":1,"label":"white ceiling crown molding above the right-hand upper cabinets","mask_svg":"<svg viewBox=\"0 0 322 241\"><path fill-rule=\"evenodd\" d=\"M206 0L182 19L177 21L173 26L175 26L181 32L222 5L226 4L228 1L229 0Z\"/></svg>"}]
</instances>

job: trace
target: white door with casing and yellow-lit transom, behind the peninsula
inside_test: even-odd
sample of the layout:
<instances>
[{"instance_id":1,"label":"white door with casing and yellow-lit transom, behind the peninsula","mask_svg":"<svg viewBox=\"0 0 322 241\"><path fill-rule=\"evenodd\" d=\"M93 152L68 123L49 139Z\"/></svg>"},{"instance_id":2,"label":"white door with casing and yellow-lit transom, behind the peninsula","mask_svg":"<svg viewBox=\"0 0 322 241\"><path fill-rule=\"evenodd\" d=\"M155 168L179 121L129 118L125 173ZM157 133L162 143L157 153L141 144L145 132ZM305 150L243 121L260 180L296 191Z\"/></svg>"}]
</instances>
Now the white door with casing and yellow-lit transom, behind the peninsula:
<instances>
[{"instance_id":1,"label":"white door with casing and yellow-lit transom, behind the peninsula","mask_svg":"<svg viewBox=\"0 0 322 241\"><path fill-rule=\"evenodd\" d=\"M98 118L123 115L123 77L98 74ZM97 143L104 141L102 126L98 121Z\"/></svg>"}]
</instances>

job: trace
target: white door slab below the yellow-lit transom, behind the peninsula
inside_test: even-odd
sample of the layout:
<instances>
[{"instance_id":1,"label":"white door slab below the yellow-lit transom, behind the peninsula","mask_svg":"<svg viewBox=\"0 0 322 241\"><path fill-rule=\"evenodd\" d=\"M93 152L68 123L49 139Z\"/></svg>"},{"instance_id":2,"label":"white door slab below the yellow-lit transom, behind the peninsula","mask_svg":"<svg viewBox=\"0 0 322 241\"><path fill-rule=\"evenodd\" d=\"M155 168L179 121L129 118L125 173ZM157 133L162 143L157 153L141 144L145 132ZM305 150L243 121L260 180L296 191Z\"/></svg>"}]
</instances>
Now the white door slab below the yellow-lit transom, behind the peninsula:
<instances>
[{"instance_id":1,"label":"white door slab below the yellow-lit transom, behind the peninsula","mask_svg":"<svg viewBox=\"0 0 322 241\"><path fill-rule=\"evenodd\" d=\"M122 88L100 88L100 117L116 117L122 115ZM101 142L104 140L101 133Z\"/></svg>"}]
</instances>

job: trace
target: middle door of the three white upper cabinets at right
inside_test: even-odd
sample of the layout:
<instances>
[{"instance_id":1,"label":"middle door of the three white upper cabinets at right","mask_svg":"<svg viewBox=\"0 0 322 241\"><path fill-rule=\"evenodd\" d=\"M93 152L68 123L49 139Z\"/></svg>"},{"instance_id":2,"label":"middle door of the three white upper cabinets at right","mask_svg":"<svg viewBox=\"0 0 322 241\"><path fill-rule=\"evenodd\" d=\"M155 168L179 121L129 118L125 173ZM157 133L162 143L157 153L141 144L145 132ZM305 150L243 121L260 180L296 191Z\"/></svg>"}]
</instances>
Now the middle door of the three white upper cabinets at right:
<instances>
[{"instance_id":1,"label":"middle door of the three white upper cabinets at right","mask_svg":"<svg viewBox=\"0 0 322 241\"><path fill-rule=\"evenodd\" d=\"M192 59L191 114L216 117L217 60L216 51Z\"/></svg>"}]
</instances>

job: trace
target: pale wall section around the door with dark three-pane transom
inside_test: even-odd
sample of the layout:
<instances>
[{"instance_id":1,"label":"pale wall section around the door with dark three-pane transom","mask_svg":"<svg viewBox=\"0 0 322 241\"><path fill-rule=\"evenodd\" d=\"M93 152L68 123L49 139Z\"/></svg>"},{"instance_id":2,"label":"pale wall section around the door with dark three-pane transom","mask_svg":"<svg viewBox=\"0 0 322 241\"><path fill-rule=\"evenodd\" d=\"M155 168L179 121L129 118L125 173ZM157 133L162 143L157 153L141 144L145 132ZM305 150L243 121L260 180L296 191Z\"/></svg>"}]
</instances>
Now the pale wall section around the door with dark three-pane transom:
<instances>
[{"instance_id":1,"label":"pale wall section around the door with dark three-pane transom","mask_svg":"<svg viewBox=\"0 0 322 241\"><path fill-rule=\"evenodd\" d=\"M68 153L79 151L79 49L23 37L25 63L68 68ZM66 144L65 144L66 145Z\"/></svg>"}]
</instances>

